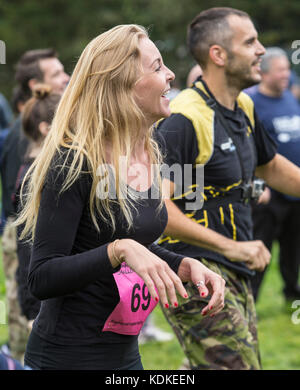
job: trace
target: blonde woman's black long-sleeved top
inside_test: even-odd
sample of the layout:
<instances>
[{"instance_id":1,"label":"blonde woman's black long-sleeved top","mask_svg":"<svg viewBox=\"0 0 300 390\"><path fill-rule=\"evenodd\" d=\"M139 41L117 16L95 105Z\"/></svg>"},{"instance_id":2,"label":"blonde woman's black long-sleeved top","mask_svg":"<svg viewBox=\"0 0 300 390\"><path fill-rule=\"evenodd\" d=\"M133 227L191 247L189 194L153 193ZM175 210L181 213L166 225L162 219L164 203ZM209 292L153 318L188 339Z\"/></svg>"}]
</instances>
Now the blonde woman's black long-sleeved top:
<instances>
[{"instance_id":1,"label":"blonde woman's black long-sleeved top","mask_svg":"<svg viewBox=\"0 0 300 390\"><path fill-rule=\"evenodd\" d=\"M85 168L74 184L59 194L68 170L65 167L60 172L61 162L53 164L42 190L32 248L29 286L42 300L33 330L43 339L62 345L130 342L135 336L102 332L119 302L113 277L119 269L112 268L107 245L117 238L132 238L177 272L184 256L153 244L166 226L166 208L158 210L157 199L141 199L135 204L134 224L128 231L116 205L115 233L100 217L98 232L89 210L90 174Z\"/></svg>"}]
</instances>

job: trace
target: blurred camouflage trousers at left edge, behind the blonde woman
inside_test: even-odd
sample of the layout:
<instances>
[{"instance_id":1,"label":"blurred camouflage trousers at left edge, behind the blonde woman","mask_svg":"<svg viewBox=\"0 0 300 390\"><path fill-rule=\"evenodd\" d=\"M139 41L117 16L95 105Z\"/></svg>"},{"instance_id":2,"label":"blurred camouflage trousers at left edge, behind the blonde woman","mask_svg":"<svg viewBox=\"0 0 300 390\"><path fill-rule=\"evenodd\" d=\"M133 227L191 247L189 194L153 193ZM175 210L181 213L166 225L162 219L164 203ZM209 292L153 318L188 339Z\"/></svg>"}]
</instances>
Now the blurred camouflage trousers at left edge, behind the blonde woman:
<instances>
[{"instance_id":1,"label":"blurred camouflage trousers at left edge, behind the blonde woman","mask_svg":"<svg viewBox=\"0 0 300 390\"><path fill-rule=\"evenodd\" d=\"M18 300L16 270L18 267L16 229L8 219L2 236L2 260L5 275L8 342L12 356L23 362L29 336L28 320L21 313Z\"/></svg>"}]
</instances>

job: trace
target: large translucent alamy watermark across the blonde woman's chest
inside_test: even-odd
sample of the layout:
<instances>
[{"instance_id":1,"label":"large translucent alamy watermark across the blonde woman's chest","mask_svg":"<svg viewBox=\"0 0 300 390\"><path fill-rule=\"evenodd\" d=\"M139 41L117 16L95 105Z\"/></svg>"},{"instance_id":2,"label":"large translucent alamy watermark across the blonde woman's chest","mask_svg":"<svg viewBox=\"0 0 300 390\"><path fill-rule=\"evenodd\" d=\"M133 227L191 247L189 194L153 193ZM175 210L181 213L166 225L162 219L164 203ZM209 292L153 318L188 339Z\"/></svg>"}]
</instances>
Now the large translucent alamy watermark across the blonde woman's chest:
<instances>
[{"instance_id":1,"label":"large translucent alamy watermark across the blonde woman's chest","mask_svg":"<svg viewBox=\"0 0 300 390\"><path fill-rule=\"evenodd\" d=\"M154 173L158 172L162 179L167 179L175 184L174 193L171 194L169 188L164 186L163 196L174 199L183 199L186 210L199 210L203 206L203 190L204 190L204 166L197 164L167 164L155 165L152 164L151 170L141 163L133 164L127 168L126 158L119 157L119 180L124 182L124 178L130 178L130 186L120 186L116 189L116 171L111 164L102 164L97 169L99 182L97 185L97 196L99 199L126 199L132 189L139 191L139 198L142 199L159 199L161 194L157 186L157 180ZM149 178L151 175L151 179ZM152 177L153 176L153 177ZM127 180L128 181L128 180ZM152 183L151 187L145 191L137 190L140 183ZM147 185L145 186L147 187ZM123 190L123 192L122 192ZM124 192L125 191L125 192ZM118 195L117 195L118 194Z\"/></svg>"}]
</instances>

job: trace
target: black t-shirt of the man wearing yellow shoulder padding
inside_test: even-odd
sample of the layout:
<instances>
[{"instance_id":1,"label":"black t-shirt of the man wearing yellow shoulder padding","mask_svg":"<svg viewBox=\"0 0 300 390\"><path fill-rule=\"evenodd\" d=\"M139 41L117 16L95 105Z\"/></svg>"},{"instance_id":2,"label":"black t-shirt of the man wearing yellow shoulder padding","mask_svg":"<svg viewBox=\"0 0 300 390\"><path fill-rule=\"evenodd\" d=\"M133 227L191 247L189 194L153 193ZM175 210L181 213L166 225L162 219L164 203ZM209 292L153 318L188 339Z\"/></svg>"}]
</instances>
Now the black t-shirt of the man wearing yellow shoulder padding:
<instances>
[{"instance_id":1,"label":"black t-shirt of the man wearing yellow shoulder padding","mask_svg":"<svg viewBox=\"0 0 300 390\"><path fill-rule=\"evenodd\" d=\"M197 92L195 94L197 95ZM198 99L196 95L186 94L185 99ZM180 94L178 96L180 99ZM184 104L188 105L188 101L184 100ZM193 104L192 101L191 104ZM201 145L199 139L205 140L205 138L197 137L195 124L202 124L202 115L205 117L203 120L205 125L200 126L198 131L211 132L212 146L211 154L203 168L203 207L188 211L186 205L189 203L189 200L184 195L187 192L184 191L182 191L181 196L177 196L173 200L182 212L197 223L228 238L248 241L253 239L251 206L242 201L223 202L223 196L228 195L229 192L234 191L241 184L242 167L235 144L238 142L242 151L246 180L253 178L257 166L266 164L274 157L276 145L257 120L255 112L253 112L255 125L251 130L241 107L236 104L234 110L229 110L220 104L218 105L223 117L225 117L234 132L234 142L232 142L216 115L211 115L209 117L210 120L205 122L205 119L208 117L207 112L193 110L191 111L192 115L196 115L199 121L195 120L193 122L191 117L188 118L180 113L181 106L179 103L177 103L176 112L159 123L157 138L161 144L166 164L170 167L173 164L179 164L181 167L190 164L193 167L192 183L190 184L197 188L195 165L199 158L201 147L205 146ZM175 176L172 176L172 171L170 179L175 180ZM182 183L185 183L184 170L182 170ZM213 207L209 206L212 203ZM253 275L253 271L249 270L244 263L229 261L221 254L187 244L173 237L163 236L159 243L164 248L176 253L215 260L244 275Z\"/></svg>"}]
</instances>

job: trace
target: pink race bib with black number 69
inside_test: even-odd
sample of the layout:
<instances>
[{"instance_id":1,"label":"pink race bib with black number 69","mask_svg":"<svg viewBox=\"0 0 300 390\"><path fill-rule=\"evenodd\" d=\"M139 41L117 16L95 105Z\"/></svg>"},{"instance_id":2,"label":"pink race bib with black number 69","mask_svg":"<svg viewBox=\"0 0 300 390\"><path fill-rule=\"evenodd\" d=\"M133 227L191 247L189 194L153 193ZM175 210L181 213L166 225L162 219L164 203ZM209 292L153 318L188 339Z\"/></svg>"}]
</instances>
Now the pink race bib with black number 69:
<instances>
[{"instance_id":1,"label":"pink race bib with black number 69","mask_svg":"<svg viewBox=\"0 0 300 390\"><path fill-rule=\"evenodd\" d=\"M126 264L114 273L120 302L108 317L103 332L138 335L146 318L157 305L145 282Z\"/></svg>"}]
</instances>

